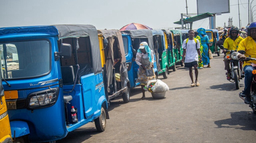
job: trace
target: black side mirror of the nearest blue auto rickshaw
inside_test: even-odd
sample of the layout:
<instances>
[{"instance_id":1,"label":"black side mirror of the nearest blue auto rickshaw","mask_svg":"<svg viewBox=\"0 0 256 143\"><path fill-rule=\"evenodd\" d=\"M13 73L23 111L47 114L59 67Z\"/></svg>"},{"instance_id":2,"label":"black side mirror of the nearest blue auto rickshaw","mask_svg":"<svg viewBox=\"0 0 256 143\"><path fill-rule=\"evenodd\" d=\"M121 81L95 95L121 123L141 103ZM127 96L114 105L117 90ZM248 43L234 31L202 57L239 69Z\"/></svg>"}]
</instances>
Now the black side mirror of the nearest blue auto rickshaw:
<instances>
[{"instance_id":1,"label":"black side mirror of the nearest blue auto rickshaw","mask_svg":"<svg viewBox=\"0 0 256 143\"><path fill-rule=\"evenodd\" d=\"M71 58L71 53L71 45L62 43L60 45L60 52L54 52L54 59L55 61L57 61L60 58L60 56L65 59Z\"/></svg>"}]
</instances>

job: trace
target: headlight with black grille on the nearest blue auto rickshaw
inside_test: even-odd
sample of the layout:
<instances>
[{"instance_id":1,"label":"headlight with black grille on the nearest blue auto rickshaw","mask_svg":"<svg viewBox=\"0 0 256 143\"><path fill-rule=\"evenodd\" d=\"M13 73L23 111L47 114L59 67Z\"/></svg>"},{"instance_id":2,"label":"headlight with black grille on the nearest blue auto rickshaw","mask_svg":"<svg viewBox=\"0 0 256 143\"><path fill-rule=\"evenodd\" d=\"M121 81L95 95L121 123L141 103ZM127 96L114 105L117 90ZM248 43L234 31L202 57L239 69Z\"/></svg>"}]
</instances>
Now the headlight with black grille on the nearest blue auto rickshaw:
<instances>
[{"instance_id":1,"label":"headlight with black grille on the nearest blue auto rickshaw","mask_svg":"<svg viewBox=\"0 0 256 143\"><path fill-rule=\"evenodd\" d=\"M34 92L28 96L28 109L40 109L53 106L59 94L59 88Z\"/></svg>"}]
</instances>

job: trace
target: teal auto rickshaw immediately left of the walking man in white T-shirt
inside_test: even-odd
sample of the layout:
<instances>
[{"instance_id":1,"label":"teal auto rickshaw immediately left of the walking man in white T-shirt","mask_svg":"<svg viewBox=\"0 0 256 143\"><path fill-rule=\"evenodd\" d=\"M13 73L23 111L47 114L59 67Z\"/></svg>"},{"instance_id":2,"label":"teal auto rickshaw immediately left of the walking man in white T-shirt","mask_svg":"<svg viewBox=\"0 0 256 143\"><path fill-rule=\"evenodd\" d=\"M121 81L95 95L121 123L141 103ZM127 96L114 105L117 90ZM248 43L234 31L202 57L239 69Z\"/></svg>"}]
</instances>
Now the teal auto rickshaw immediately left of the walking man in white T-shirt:
<instances>
[{"instance_id":1,"label":"teal auto rickshaw immediately left of the walking man in white T-shirt","mask_svg":"<svg viewBox=\"0 0 256 143\"><path fill-rule=\"evenodd\" d=\"M181 30L179 29L175 29L175 30L170 30L173 34L173 38L174 38L174 54L175 54L175 63L177 64L180 64L181 67L184 66L184 63L182 63L182 54L183 54L183 49L182 49L182 43L183 43L183 40L182 40L182 34L181 33ZM184 37L185 38L185 37ZM184 39L183 38L183 39Z\"/></svg>"}]
</instances>

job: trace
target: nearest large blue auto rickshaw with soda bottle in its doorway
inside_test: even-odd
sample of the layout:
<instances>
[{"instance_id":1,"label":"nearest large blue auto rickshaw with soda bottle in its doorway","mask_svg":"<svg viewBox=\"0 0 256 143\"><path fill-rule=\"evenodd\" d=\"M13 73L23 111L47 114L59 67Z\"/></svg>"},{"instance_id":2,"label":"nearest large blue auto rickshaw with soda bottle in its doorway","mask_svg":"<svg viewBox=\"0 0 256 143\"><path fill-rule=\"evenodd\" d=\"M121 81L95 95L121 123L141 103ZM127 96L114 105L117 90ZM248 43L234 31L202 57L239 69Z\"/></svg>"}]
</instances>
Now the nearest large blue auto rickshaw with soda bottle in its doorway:
<instances>
[{"instance_id":1,"label":"nearest large blue auto rickshaw with soda bottle in its doorway","mask_svg":"<svg viewBox=\"0 0 256 143\"><path fill-rule=\"evenodd\" d=\"M92 121L104 131L108 104L94 26L0 28L0 45L14 142L54 142Z\"/></svg>"}]
</instances>

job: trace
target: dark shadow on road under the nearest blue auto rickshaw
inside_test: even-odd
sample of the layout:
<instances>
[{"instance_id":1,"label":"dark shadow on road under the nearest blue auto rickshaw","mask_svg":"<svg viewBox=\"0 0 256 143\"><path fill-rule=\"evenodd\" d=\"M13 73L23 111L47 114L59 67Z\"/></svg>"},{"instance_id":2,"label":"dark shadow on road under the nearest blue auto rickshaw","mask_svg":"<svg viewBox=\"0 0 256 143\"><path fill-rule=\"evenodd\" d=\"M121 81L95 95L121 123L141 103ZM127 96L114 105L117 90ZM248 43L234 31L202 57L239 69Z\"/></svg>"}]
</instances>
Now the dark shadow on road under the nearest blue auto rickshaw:
<instances>
[{"instance_id":1,"label":"dark shadow on road under the nearest blue auto rickshaw","mask_svg":"<svg viewBox=\"0 0 256 143\"><path fill-rule=\"evenodd\" d=\"M75 131L69 132L68 135L56 143L82 143L100 132L97 131L96 127L80 127Z\"/></svg>"}]
</instances>

